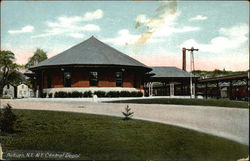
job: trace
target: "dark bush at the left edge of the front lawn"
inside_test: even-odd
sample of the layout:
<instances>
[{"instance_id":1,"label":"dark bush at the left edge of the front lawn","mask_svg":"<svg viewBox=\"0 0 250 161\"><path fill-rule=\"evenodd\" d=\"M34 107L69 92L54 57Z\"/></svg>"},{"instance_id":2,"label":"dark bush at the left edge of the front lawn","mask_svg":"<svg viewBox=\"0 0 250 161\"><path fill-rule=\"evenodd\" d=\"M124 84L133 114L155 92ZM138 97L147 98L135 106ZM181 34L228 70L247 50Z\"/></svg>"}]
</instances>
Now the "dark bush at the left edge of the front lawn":
<instances>
[{"instance_id":1,"label":"dark bush at the left edge of the front lawn","mask_svg":"<svg viewBox=\"0 0 250 161\"><path fill-rule=\"evenodd\" d=\"M3 109L0 109L0 130L1 133L11 133L15 131L18 125L17 116L12 112L11 105L7 104Z\"/></svg>"}]
</instances>

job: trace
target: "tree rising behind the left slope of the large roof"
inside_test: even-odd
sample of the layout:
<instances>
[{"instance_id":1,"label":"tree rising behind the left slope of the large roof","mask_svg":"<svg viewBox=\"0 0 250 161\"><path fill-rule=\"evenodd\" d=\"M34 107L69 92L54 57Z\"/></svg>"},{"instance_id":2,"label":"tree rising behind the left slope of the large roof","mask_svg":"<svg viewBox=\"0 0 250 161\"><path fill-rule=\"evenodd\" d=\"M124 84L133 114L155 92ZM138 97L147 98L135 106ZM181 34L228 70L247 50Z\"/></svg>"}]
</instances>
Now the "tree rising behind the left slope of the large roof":
<instances>
[{"instance_id":1,"label":"tree rising behind the left slope of the large roof","mask_svg":"<svg viewBox=\"0 0 250 161\"><path fill-rule=\"evenodd\" d=\"M40 63L43 60L48 59L47 57L47 53L45 51L43 51L43 49L36 49L34 55L32 57L29 58L28 63L25 65L26 68L29 68L33 65L37 65L38 63Z\"/></svg>"}]
</instances>

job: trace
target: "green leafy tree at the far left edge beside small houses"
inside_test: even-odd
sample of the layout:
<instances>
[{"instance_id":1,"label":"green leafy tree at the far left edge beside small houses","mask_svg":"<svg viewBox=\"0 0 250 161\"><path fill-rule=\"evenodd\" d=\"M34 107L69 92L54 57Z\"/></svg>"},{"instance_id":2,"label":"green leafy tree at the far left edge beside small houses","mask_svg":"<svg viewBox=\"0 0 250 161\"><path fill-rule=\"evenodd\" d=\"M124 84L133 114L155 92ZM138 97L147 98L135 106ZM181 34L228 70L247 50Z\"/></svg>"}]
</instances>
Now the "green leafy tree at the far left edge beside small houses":
<instances>
[{"instance_id":1,"label":"green leafy tree at the far left edge beside small houses","mask_svg":"<svg viewBox=\"0 0 250 161\"><path fill-rule=\"evenodd\" d=\"M0 97L3 94L3 87L15 79L18 65L14 63L15 55L11 51L0 50Z\"/></svg>"}]
</instances>

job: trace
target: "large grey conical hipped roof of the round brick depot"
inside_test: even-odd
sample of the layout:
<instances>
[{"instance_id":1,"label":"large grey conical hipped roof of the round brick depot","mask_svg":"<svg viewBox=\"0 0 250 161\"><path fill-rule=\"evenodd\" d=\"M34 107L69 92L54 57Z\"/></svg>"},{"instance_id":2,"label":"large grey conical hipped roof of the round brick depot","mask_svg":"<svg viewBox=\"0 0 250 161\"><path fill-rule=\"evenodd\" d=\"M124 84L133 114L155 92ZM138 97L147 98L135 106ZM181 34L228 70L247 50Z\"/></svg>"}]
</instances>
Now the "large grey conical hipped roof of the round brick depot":
<instances>
[{"instance_id":1,"label":"large grey conical hipped roof of the round brick depot","mask_svg":"<svg viewBox=\"0 0 250 161\"><path fill-rule=\"evenodd\" d=\"M151 70L148 66L99 41L94 36L50 59L40 62L36 66L32 66L30 69L64 65L119 65L142 67L147 71Z\"/></svg>"}]
</instances>

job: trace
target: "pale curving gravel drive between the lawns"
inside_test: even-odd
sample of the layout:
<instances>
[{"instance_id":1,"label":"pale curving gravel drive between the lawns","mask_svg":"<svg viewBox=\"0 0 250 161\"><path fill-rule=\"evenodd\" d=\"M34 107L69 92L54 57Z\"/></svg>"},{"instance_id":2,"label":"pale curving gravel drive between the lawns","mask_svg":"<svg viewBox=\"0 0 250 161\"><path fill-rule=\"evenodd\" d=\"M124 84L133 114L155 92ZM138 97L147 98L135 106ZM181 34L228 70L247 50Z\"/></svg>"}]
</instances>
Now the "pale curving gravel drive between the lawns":
<instances>
[{"instance_id":1,"label":"pale curving gravel drive between the lawns","mask_svg":"<svg viewBox=\"0 0 250 161\"><path fill-rule=\"evenodd\" d=\"M126 105L136 119L161 122L249 145L249 109L188 105L91 103L79 99L1 100L15 109L68 111L122 117Z\"/></svg>"}]
</instances>

